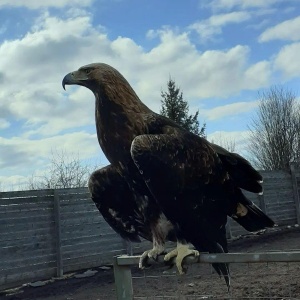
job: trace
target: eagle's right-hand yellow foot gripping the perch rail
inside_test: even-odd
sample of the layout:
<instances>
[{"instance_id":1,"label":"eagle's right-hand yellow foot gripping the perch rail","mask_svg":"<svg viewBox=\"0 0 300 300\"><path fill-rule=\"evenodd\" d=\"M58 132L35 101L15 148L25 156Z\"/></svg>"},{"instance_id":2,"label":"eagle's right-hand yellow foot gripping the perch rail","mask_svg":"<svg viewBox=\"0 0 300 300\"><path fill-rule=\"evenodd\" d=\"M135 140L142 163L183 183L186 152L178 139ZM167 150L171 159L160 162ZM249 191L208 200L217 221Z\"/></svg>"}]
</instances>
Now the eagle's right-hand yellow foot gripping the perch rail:
<instances>
[{"instance_id":1,"label":"eagle's right-hand yellow foot gripping the perch rail","mask_svg":"<svg viewBox=\"0 0 300 300\"><path fill-rule=\"evenodd\" d=\"M198 257L200 253L197 250L190 249L188 244L177 243L177 248L167 253L164 260L170 261L172 258L176 257L175 263L179 274L185 274L187 268L183 267L183 260L189 255Z\"/></svg>"}]
</instances>

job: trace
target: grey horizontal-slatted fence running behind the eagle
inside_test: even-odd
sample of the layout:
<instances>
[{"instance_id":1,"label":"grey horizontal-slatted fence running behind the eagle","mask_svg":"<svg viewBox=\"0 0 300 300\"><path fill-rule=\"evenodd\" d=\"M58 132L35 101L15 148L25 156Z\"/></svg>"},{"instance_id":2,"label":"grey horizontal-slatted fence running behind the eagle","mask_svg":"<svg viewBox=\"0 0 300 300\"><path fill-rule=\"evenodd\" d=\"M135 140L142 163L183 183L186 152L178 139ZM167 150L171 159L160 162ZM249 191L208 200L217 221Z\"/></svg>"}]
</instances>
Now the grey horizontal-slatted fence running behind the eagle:
<instances>
[{"instance_id":1,"label":"grey horizontal-slatted fence running behind the eagle","mask_svg":"<svg viewBox=\"0 0 300 300\"><path fill-rule=\"evenodd\" d=\"M264 195L246 193L278 225L300 224L300 172L262 172ZM229 237L246 231L233 220ZM0 193L0 290L112 264L126 243L107 225L86 188ZM133 253L150 247L133 245Z\"/></svg>"}]
</instances>

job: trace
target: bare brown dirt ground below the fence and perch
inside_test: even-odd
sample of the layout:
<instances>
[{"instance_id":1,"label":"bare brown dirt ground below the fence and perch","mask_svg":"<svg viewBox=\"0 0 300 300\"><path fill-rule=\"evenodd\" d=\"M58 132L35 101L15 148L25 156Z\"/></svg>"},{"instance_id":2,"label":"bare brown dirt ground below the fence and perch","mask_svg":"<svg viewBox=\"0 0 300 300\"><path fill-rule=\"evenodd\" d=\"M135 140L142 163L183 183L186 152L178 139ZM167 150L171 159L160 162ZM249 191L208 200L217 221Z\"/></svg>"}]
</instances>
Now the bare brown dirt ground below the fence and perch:
<instances>
[{"instance_id":1,"label":"bare brown dirt ground below the fence and perch","mask_svg":"<svg viewBox=\"0 0 300 300\"><path fill-rule=\"evenodd\" d=\"M230 252L300 250L300 228L276 228L230 241ZM95 275L25 286L0 294L1 300L104 300L116 299L112 268L96 268ZM300 263L231 264L231 291L211 266L196 264L188 274L156 266L132 268L135 299L300 299ZM84 272L84 271L82 271Z\"/></svg>"}]
</instances>

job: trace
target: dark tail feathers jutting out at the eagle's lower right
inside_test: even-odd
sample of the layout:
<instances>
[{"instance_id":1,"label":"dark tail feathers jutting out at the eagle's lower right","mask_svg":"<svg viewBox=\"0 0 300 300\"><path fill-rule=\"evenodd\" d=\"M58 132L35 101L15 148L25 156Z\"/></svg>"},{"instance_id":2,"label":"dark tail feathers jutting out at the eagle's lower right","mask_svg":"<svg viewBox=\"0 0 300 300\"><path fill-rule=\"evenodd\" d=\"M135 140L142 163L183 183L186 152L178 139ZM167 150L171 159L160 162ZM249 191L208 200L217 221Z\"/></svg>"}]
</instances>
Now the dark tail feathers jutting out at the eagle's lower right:
<instances>
[{"instance_id":1,"label":"dark tail feathers jutting out at the eagle's lower right","mask_svg":"<svg viewBox=\"0 0 300 300\"><path fill-rule=\"evenodd\" d=\"M251 204L241 204L242 207L246 208L245 215L233 215L232 218L237 221L246 230L253 232L267 227L273 227L275 225L274 221L269 218L259 207L254 203Z\"/></svg>"}]
</instances>

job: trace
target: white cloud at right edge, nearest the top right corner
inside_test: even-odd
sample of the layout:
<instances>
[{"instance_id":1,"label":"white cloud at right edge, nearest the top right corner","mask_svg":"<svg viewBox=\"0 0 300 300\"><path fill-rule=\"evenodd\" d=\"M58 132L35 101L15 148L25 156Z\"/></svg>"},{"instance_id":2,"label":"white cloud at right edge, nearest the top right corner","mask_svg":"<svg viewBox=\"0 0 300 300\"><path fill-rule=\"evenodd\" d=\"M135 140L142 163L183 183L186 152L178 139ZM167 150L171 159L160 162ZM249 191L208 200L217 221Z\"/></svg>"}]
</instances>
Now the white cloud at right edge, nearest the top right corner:
<instances>
[{"instance_id":1,"label":"white cloud at right edge, nearest the top right corner","mask_svg":"<svg viewBox=\"0 0 300 300\"><path fill-rule=\"evenodd\" d=\"M271 40L286 40L299 41L300 40L300 17L284 21L266 29L260 36L260 42L268 42Z\"/></svg>"}]
</instances>

